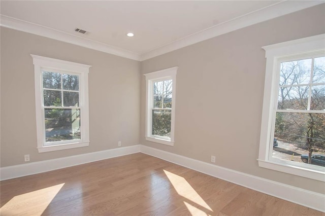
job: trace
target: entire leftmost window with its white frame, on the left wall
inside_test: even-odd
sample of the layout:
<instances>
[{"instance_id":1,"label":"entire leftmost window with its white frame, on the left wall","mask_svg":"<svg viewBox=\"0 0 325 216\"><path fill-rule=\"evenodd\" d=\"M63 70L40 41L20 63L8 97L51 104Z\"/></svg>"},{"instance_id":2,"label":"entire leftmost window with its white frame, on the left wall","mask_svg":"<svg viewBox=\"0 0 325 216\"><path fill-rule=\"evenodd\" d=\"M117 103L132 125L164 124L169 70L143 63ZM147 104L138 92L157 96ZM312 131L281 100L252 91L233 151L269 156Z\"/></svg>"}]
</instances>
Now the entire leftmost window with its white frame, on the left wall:
<instances>
[{"instance_id":1,"label":"entire leftmost window with its white frame, on the left wall","mask_svg":"<svg viewBox=\"0 0 325 216\"><path fill-rule=\"evenodd\" d=\"M31 55L40 153L89 146L89 65Z\"/></svg>"}]
</instances>

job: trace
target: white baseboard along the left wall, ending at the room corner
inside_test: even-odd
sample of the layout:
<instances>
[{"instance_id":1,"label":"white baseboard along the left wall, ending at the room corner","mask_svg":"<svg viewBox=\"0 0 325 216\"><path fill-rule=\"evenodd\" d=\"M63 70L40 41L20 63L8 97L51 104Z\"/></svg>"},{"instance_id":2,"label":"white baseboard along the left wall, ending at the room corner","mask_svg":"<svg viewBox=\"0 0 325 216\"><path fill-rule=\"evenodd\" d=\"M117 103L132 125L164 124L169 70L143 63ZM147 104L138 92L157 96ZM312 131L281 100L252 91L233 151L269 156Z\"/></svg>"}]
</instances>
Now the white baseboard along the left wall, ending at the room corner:
<instances>
[{"instance_id":1,"label":"white baseboard along the left wall, ending at the room corner","mask_svg":"<svg viewBox=\"0 0 325 216\"><path fill-rule=\"evenodd\" d=\"M91 152L87 154L56 158L52 160L19 164L15 166L6 166L0 168L0 180L3 181L6 179L47 172L55 169L61 169L138 152L140 152L140 145L110 149L100 152Z\"/></svg>"}]
</instances>

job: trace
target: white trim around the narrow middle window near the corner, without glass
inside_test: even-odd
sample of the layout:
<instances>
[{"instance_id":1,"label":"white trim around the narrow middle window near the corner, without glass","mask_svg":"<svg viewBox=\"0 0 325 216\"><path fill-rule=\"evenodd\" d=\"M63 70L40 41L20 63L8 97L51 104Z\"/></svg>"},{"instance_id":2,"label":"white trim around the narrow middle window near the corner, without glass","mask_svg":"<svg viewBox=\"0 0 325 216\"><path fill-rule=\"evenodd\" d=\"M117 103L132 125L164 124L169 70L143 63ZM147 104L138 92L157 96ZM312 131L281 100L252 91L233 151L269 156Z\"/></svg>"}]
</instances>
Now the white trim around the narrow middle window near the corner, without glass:
<instances>
[{"instance_id":1,"label":"white trim around the narrow middle window near the corner, without glass","mask_svg":"<svg viewBox=\"0 0 325 216\"><path fill-rule=\"evenodd\" d=\"M158 142L168 146L174 146L174 131L175 131L175 107L176 107L176 74L178 67L170 67L163 70L154 71L148 74L144 74L146 77L146 140L152 142ZM173 80L173 92L172 92L172 116L171 116L171 140L159 138L151 135L151 104L152 104L152 86L153 82L159 80Z\"/></svg>"}]
</instances>

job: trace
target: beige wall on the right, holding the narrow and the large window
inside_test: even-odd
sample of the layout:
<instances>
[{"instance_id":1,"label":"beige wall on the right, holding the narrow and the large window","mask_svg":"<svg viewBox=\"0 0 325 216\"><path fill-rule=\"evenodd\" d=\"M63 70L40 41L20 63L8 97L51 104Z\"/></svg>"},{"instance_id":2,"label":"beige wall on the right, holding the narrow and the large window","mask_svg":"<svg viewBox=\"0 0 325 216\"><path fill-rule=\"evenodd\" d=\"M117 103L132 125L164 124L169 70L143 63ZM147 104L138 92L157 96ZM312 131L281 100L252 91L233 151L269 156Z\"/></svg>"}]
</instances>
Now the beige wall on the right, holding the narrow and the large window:
<instances>
[{"instance_id":1,"label":"beige wall on the right, holding the narrow and the large window","mask_svg":"<svg viewBox=\"0 0 325 216\"><path fill-rule=\"evenodd\" d=\"M145 140L145 78L141 80L141 144L325 193L323 183L258 167L265 78L262 46L325 33L316 6L239 29L142 62L142 74L179 66L175 146Z\"/></svg>"}]
</instances>

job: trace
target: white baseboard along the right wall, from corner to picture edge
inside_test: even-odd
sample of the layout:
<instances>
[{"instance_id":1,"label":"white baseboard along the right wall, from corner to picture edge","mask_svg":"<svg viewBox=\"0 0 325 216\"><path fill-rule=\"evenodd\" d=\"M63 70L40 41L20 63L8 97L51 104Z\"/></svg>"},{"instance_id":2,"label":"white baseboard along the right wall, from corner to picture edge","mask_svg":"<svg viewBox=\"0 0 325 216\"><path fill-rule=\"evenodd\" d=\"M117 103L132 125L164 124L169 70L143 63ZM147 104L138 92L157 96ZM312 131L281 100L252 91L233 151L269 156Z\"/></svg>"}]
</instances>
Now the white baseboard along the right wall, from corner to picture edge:
<instances>
[{"instance_id":1,"label":"white baseboard along the right wall, from corner to picture edge","mask_svg":"<svg viewBox=\"0 0 325 216\"><path fill-rule=\"evenodd\" d=\"M325 195L141 145L140 152L280 199L325 212Z\"/></svg>"}]
</instances>

